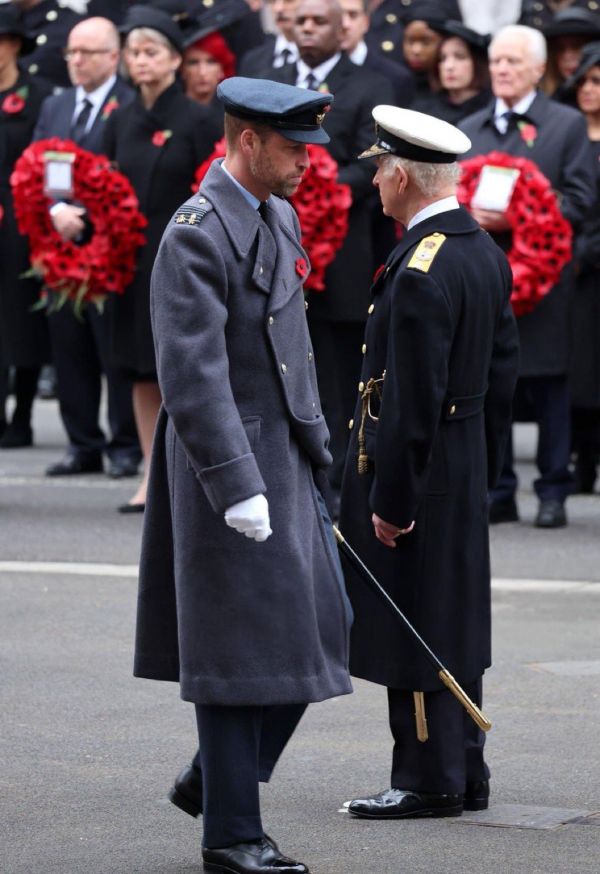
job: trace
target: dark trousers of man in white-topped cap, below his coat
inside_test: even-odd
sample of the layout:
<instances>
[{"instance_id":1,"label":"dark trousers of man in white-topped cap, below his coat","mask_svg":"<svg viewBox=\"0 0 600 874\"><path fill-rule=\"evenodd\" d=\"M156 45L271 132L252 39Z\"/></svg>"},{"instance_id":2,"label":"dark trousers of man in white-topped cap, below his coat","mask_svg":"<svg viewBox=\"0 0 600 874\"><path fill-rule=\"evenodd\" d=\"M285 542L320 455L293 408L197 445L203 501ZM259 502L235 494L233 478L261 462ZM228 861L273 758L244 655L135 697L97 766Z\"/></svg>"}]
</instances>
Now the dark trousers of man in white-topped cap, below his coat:
<instances>
[{"instance_id":1,"label":"dark trousers of man in white-topped cap, below his coat","mask_svg":"<svg viewBox=\"0 0 600 874\"><path fill-rule=\"evenodd\" d=\"M463 688L480 707L481 678ZM429 740L422 743L415 728L413 693L388 689L394 737L392 788L461 795L467 783L490 776L483 758L485 733L447 689L424 694Z\"/></svg>"}]
</instances>

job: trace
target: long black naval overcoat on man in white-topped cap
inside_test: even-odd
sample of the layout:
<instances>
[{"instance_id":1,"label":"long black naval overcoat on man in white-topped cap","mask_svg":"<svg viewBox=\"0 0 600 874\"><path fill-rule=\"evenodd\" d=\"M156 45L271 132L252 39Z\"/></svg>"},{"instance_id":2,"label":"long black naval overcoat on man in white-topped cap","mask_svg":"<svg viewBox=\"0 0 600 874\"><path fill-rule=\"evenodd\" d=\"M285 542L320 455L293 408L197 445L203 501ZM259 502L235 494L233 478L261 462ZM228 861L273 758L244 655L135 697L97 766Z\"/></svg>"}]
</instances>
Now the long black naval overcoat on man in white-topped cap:
<instances>
[{"instance_id":1,"label":"long black naval overcoat on man in white-topped cap","mask_svg":"<svg viewBox=\"0 0 600 874\"><path fill-rule=\"evenodd\" d=\"M423 272L425 237L445 242ZM437 238L436 238L437 239ZM429 243L428 243L429 245ZM425 247L425 254L427 254ZM357 405L342 484L340 528L459 682L490 664L487 490L500 470L517 378L518 341L505 256L463 209L408 231L373 286L361 380L385 371L357 468ZM399 528L380 543L372 513ZM355 613L350 668L392 688L441 688L389 608L348 568Z\"/></svg>"}]
</instances>

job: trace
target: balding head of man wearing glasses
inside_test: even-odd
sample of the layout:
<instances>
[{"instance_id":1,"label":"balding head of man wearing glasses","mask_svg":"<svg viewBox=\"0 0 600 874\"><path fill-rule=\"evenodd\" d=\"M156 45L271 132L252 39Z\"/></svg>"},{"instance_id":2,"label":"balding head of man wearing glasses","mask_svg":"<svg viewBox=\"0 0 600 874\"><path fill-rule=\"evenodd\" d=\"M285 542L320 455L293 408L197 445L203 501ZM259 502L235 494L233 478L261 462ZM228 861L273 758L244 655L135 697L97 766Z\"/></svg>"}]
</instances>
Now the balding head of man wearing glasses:
<instances>
[{"instance_id":1,"label":"balding head of man wearing glasses","mask_svg":"<svg viewBox=\"0 0 600 874\"><path fill-rule=\"evenodd\" d=\"M69 33L67 65L73 85L95 91L117 72L119 33L107 18L86 18Z\"/></svg>"}]
</instances>

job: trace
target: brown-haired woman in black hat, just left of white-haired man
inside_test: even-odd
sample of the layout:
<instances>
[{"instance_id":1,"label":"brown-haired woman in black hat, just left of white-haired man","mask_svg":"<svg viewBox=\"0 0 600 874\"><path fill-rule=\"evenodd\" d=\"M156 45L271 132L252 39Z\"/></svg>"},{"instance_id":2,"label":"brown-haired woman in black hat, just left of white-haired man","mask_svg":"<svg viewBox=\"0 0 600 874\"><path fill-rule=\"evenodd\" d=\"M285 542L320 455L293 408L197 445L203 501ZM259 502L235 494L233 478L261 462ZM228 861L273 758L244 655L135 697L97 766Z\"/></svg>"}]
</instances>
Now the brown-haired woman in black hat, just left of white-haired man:
<instances>
[{"instance_id":1,"label":"brown-haired woman in black hat, just left of white-haired man","mask_svg":"<svg viewBox=\"0 0 600 874\"><path fill-rule=\"evenodd\" d=\"M436 29L442 42L433 74L435 90L414 100L411 109L458 124L492 98L487 60L490 38L459 21L446 21Z\"/></svg>"}]
</instances>

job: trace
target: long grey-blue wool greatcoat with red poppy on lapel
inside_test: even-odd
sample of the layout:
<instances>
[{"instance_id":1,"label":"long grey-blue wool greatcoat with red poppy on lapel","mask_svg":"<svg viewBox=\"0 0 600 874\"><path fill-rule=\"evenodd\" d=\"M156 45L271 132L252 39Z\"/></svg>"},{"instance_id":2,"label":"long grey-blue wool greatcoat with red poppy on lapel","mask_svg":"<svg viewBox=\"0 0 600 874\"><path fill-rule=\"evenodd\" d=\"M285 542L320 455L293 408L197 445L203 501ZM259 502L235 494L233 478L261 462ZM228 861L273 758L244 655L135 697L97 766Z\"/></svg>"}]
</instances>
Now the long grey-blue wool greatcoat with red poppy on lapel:
<instances>
[{"instance_id":1,"label":"long grey-blue wool greatcoat with red poppy on lapel","mask_svg":"<svg viewBox=\"0 0 600 874\"><path fill-rule=\"evenodd\" d=\"M167 226L151 314L163 395L140 566L135 674L201 704L351 692L349 616L318 509L327 466L292 207L260 215L216 161ZM264 493L256 543L224 511Z\"/></svg>"}]
</instances>

